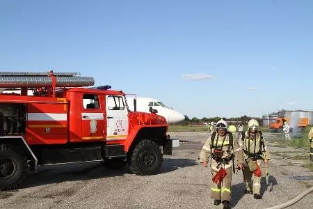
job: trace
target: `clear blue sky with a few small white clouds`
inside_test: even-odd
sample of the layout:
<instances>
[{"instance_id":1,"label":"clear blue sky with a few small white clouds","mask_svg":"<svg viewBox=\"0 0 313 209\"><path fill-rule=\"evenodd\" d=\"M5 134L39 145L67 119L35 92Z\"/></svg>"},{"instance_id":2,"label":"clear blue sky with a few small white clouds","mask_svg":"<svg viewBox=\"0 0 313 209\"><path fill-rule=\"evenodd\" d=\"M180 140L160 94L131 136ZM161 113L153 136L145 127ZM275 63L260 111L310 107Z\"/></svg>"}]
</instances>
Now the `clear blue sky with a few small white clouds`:
<instances>
[{"instance_id":1,"label":"clear blue sky with a few small white clouds","mask_svg":"<svg viewBox=\"0 0 313 209\"><path fill-rule=\"evenodd\" d=\"M0 1L0 71L81 72L189 118L313 109L313 1Z\"/></svg>"}]
</instances>

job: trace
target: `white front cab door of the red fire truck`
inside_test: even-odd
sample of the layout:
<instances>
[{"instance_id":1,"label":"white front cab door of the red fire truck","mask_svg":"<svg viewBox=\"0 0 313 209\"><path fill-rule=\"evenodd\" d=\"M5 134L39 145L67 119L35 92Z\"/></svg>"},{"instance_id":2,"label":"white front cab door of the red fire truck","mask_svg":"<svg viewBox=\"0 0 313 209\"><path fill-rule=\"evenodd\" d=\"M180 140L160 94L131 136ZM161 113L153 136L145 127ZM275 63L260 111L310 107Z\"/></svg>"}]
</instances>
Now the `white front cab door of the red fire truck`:
<instances>
[{"instance_id":1,"label":"white front cab door of the red fire truck","mask_svg":"<svg viewBox=\"0 0 313 209\"><path fill-rule=\"evenodd\" d=\"M106 140L126 139L128 135L128 111L121 95L106 95Z\"/></svg>"}]
</instances>

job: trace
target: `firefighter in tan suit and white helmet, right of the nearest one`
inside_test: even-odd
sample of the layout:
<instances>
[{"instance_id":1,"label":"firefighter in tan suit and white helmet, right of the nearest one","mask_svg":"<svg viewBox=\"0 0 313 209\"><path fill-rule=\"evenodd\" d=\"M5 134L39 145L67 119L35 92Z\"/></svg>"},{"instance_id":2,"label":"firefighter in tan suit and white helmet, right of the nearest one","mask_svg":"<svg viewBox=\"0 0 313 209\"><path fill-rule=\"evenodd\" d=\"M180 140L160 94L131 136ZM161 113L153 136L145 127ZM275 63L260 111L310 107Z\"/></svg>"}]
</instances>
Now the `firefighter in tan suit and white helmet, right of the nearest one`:
<instances>
[{"instance_id":1,"label":"firefighter in tan suit and white helmet, right of the nearest one","mask_svg":"<svg viewBox=\"0 0 313 209\"><path fill-rule=\"evenodd\" d=\"M249 130L243 135L243 153L246 164L243 167L243 180L246 185L245 193L254 194L255 199L262 199L259 193L261 189L262 172L260 164L268 164L271 159L270 153L264 143L262 132L257 130L259 123L255 119L248 122Z\"/></svg>"}]
</instances>

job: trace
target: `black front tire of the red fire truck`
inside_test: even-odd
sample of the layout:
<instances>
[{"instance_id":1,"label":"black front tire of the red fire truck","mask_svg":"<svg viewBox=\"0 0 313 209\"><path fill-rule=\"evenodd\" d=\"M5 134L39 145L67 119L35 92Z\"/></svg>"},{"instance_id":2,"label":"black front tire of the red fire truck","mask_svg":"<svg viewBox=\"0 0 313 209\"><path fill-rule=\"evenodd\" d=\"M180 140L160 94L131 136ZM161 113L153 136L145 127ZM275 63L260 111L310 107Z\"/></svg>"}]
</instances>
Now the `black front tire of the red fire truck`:
<instances>
[{"instance_id":1,"label":"black front tire of the red fire truck","mask_svg":"<svg viewBox=\"0 0 313 209\"><path fill-rule=\"evenodd\" d=\"M162 163L162 151L151 140L139 141L129 157L129 170L140 176L156 174Z\"/></svg>"}]
</instances>

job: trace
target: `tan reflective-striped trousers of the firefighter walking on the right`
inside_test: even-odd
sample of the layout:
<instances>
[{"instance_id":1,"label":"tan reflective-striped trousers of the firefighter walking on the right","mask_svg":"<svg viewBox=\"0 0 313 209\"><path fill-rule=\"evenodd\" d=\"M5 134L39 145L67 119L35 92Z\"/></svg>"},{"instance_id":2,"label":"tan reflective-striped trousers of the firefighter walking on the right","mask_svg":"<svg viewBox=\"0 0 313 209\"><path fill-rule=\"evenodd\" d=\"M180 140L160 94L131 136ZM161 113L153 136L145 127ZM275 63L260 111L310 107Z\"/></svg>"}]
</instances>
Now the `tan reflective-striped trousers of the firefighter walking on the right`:
<instances>
[{"instance_id":1,"label":"tan reflective-striped trousers of the firefighter walking on the right","mask_svg":"<svg viewBox=\"0 0 313 209\"><path fill-rule=\"evenodd\" d=\"M243 181L245 182L247 191L252 191L253 194L259 194L259 190L261 189L261 177L253 175L248 164L245 164L243 167Z\"/></svg>"}]
</instances>

